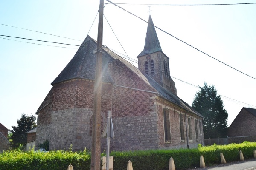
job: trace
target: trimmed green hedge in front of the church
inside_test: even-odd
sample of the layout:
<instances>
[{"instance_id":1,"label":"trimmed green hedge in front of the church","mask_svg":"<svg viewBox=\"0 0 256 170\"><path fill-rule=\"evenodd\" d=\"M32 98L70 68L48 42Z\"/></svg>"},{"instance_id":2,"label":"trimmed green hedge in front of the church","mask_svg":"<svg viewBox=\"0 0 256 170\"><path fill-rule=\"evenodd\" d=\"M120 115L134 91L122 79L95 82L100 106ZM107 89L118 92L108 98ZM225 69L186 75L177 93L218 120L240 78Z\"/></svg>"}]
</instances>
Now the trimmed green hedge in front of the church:
<instances>
[{"instance_id":1,"label":"trimmed green hedge in front of the church","mask_svg":"<svg viewBox=\"0 0 256 170\"><path fill-rule=\"evenodd\" d=\"M239 161L241 150L244 159L253 158L256 142L241 144L212 145L195 149L176 150L140 150L140 151L113 151L114 169L126 170L131 160L134 170L169 170L169 159L174 159L175 168L184 170L199 167L200 156L204 156L206 166L221 164L220 153L223 153L227 162ZM102 154L104 156L104 154ZM65 170L69 164L74 170L90 170L90 153L72 151L23 152L11 150L0 153L0 170Z\"/></svg>"}]
</instances>

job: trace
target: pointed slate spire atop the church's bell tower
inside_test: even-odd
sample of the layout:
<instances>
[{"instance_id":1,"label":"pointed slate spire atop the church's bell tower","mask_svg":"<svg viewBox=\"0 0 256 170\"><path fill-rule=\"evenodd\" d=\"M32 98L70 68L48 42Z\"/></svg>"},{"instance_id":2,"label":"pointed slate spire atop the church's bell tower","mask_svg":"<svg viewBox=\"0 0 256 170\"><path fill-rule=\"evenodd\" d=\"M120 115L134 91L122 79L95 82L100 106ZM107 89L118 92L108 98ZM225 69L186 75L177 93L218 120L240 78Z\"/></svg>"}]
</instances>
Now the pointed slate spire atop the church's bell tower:
<instances>
[{"instance_id":1,"label":"pointed slate spire atop the church's bell tower","mask_svg":"<svg viewBox=\"0 0 256 170\"><path fill-rule=\"evenodd\" d=\"M162 49L157 37L156 29L154 28L154 23L152 21L151 15L149 14L145 46L143 51L141 51L141 53L138 55L138 57L157 51L162 51Z\"/></svg>"}]
</instances>

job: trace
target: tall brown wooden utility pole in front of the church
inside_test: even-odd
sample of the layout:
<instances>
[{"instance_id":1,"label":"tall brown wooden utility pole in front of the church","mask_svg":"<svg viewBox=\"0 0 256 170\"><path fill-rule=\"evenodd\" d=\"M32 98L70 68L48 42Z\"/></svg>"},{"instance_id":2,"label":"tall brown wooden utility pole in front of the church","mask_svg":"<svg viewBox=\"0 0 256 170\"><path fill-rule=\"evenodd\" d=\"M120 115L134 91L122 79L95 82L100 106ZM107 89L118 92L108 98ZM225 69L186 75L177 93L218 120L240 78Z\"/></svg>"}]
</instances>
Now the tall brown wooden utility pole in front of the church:
<instances>
[{"instance_id":1,"label":"tall brown wooden utility pole in front of the church","mask_svg":"<svg viewBox=\"0 0 256 170\"><path fill-rule=\"evenodd\" d=\"M99 25L97 39L97 58L95 68L94 98L93 98L93 132L91 170L100 170L100 114L101 114L101 92L102 92L102 34L103 34L103 5L104 0L99 0Z\"/></svg>"}]
</instances>

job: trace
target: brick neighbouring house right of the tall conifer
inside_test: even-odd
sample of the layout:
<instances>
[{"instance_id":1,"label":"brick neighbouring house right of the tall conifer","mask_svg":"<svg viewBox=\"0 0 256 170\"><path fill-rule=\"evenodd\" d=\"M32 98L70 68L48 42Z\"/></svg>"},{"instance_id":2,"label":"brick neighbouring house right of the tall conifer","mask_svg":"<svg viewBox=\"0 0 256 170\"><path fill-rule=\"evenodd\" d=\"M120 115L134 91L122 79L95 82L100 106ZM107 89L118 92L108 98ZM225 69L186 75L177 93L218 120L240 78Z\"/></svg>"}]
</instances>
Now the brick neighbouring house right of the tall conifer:
<instances>
[{"instance_id":1,"label":"brick neighbouring house right of the tall conifer","mask_svg":"<svg viewBox=\"0 0 256 170\"><path fill-rule=\"evenodd\" d=\"M256 142L256 109L242 108L228 127L229 143Z\"/></svg>"}]
</instances>

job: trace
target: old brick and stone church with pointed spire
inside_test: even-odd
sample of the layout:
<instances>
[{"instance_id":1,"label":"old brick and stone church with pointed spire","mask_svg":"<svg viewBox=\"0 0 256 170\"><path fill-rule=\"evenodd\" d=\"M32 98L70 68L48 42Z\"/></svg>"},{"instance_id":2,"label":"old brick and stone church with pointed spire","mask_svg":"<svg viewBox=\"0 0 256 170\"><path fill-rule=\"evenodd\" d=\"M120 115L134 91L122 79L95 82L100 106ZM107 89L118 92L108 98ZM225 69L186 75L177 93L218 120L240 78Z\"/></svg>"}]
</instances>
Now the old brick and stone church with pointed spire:
<instances>
[{"instance_id":1,"label":"old brick and stone church with pointed spire","mask_svg":"<svg viewBox=\"0 0 256 170\"><path fill-rule=\"evenodd\" d=\"M36 114L36 148L90 150L97 42L87 35L51 83ZM177 96L169 57L160 46L151 16L138 68L108 48L103 50L101 131L111 111L111 150L193 148L204 145L203 116ZM106 139L101 139L102 150Z\"/></svg>"}]
</instances>

